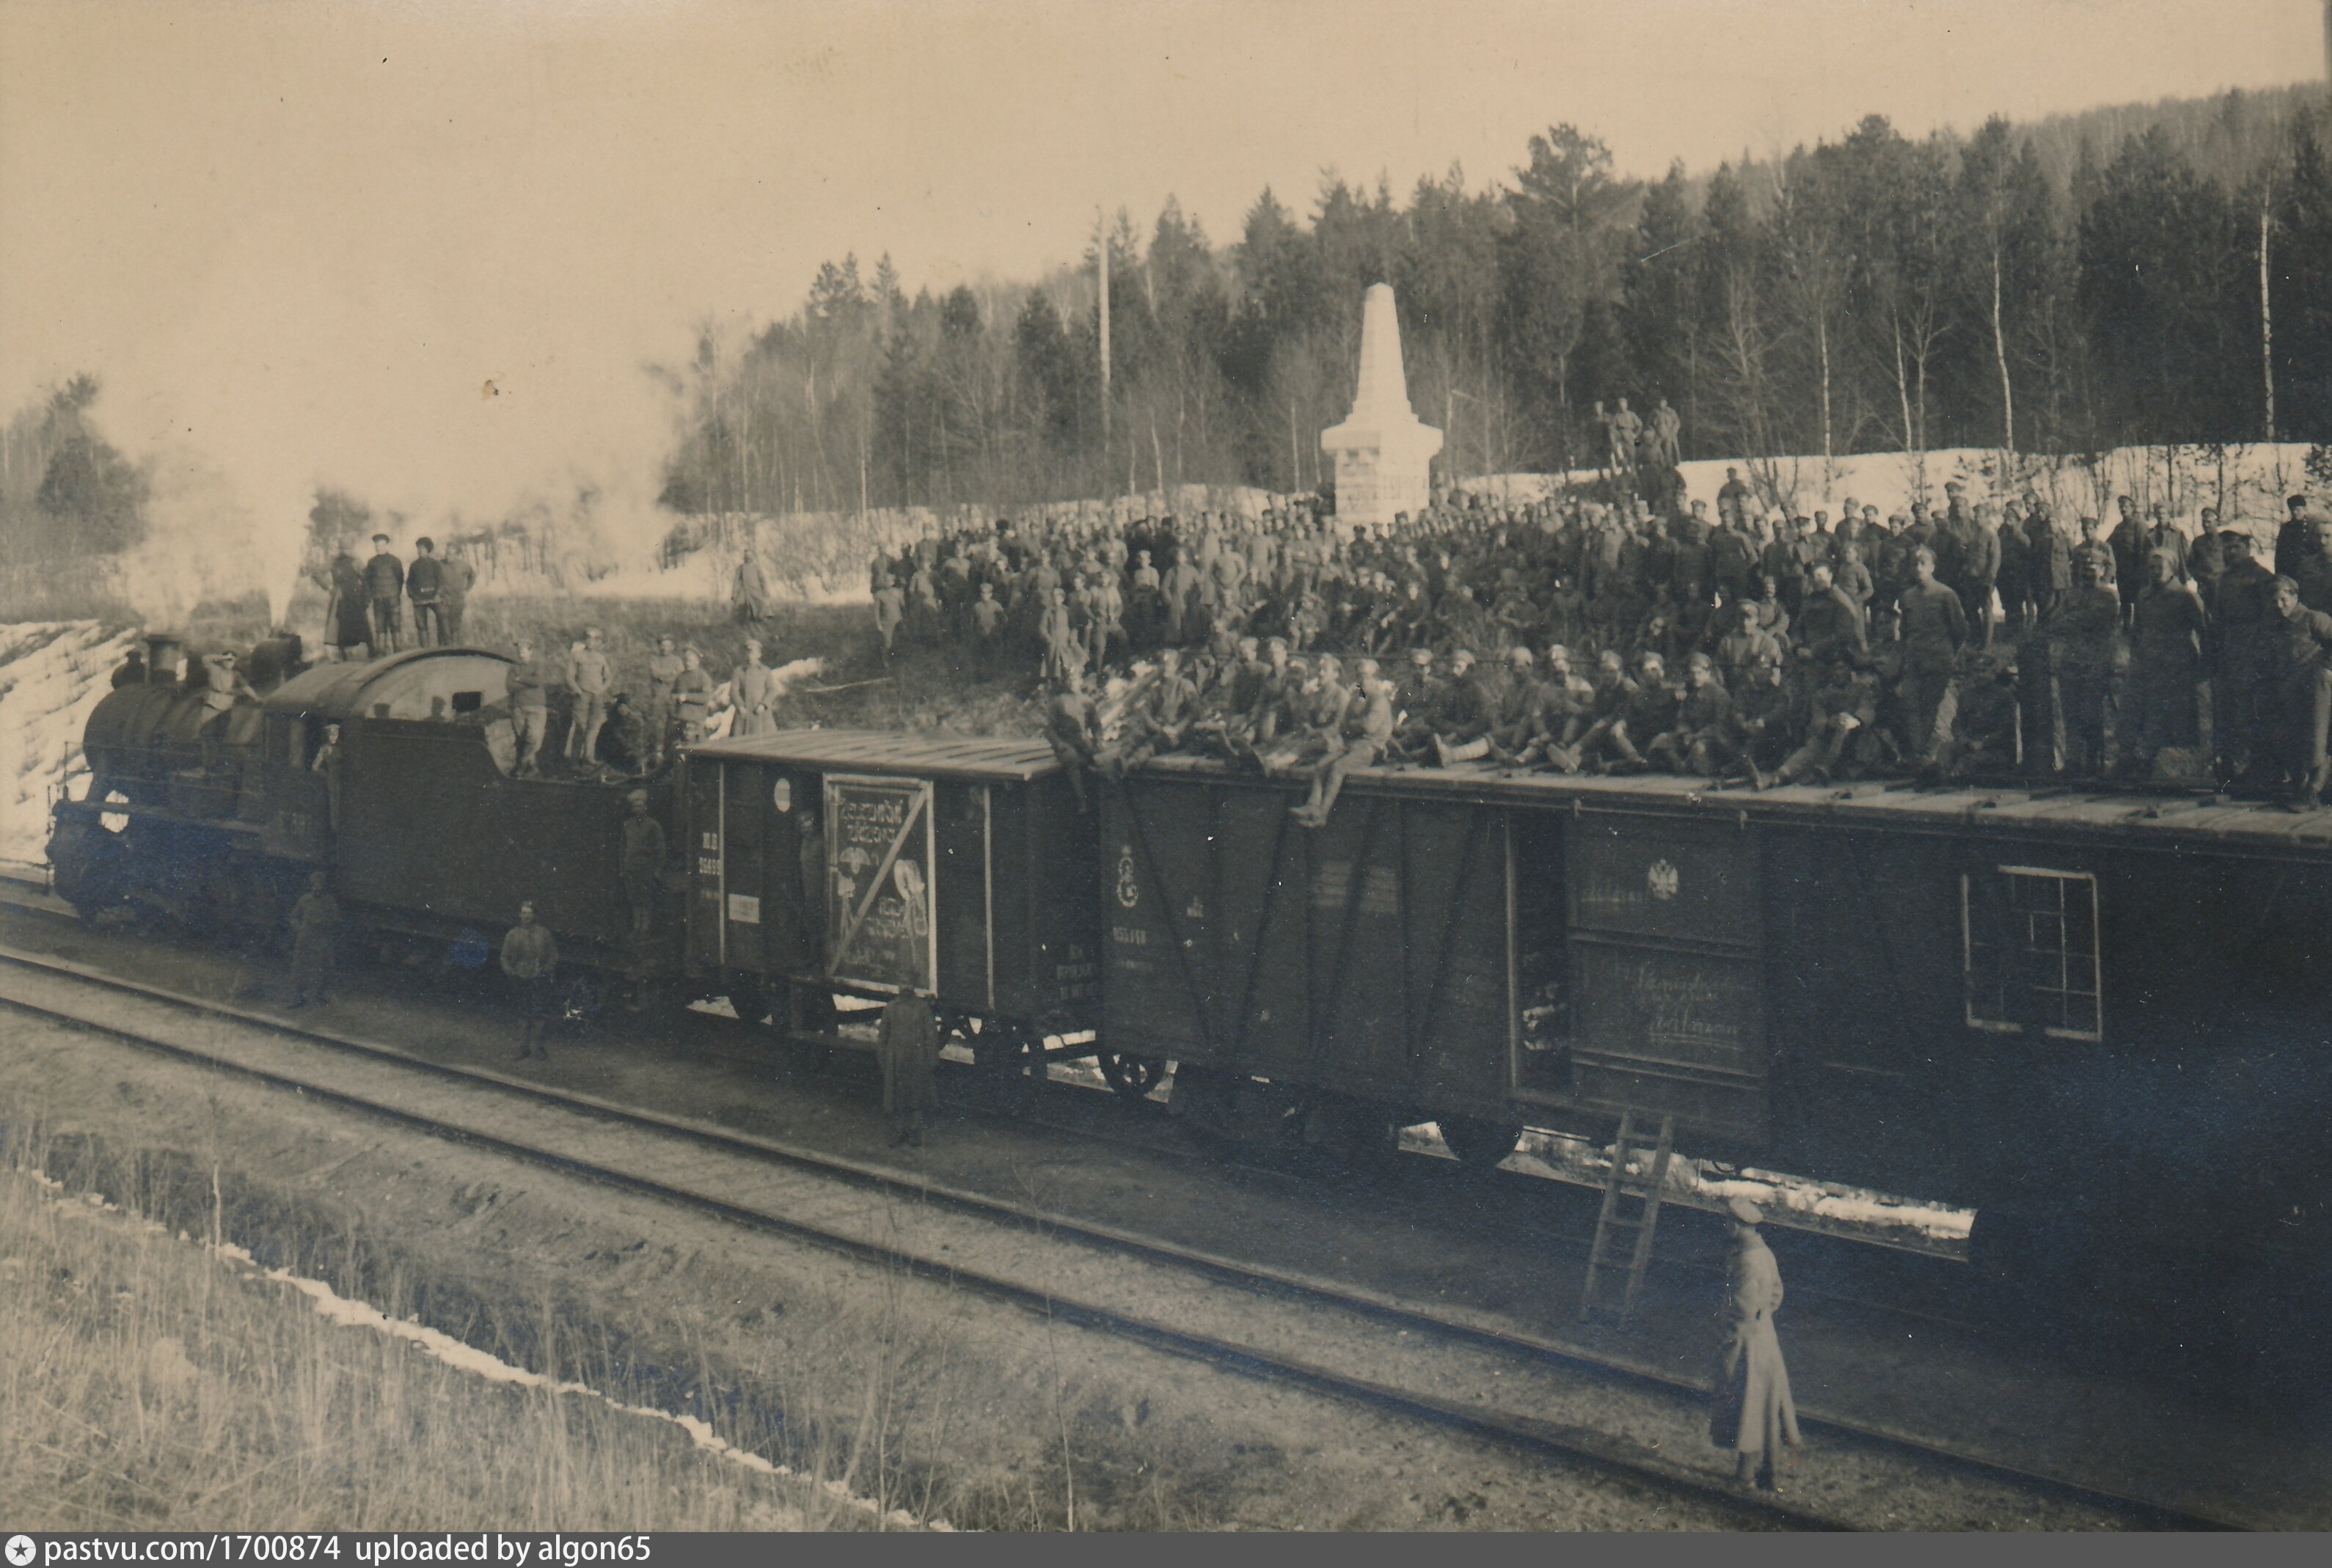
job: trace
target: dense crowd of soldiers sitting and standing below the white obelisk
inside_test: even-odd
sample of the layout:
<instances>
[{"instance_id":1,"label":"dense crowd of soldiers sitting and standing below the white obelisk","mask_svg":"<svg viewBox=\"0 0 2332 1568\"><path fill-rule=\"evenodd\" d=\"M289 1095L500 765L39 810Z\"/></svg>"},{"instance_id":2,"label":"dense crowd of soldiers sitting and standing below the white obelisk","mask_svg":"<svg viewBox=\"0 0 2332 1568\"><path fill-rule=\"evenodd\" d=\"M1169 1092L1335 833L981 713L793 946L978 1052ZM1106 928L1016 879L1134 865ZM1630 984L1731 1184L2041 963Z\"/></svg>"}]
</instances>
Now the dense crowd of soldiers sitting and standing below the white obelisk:
<instances>
[{"instance_id":1,"label":"dense crowd of soldiers sitting and standing below the white obelisk","mask_svg":"<svg viewBox=\"0 0 2332 1568\"><path fill-rule=\"evenodd\" d=\"M1007 520L879 557L874 627L886 655L1033 664L1080 790L1208 753L1308 776L1311 825L1381 760L1744 787L2176 776L2309 808L2332 783L2332 517L2288 506L2271 566L2211 508L2187 531L2117 496L2110 531L2066 529L2034 492L1952 480L1833 522L1758 506L1737 471L1714 515Z\"/></svg>"}]
</instances>

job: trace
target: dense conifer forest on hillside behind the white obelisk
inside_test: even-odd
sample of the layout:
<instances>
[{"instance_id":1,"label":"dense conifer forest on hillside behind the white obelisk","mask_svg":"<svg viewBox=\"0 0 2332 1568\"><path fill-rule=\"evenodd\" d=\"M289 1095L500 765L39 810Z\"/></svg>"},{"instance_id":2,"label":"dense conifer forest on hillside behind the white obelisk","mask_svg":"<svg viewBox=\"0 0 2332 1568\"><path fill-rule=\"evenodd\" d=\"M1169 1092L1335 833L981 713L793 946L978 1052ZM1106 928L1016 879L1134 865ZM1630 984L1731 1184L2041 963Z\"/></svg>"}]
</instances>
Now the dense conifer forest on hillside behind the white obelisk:
<instances>
[{"instance_id":1,"label":"dense conifer forest on hillside behind the white obelisk","mask_svg":"<svg viewBox=\"0 0 2332 1568\"><path fill-rule=\"evenodd\" d=\"M2078 454L2332 440L2320 86L1614 172L1574 126L1504 182L1325 175L1217 245L1168 198L1038 282L909 298L888 259L704 329L672 373L681 513L1017 503L1185 482L1315 489L1360 298L1399 294L1453 478L1593 461L1597 398L1670 398L1684 457Z\"/></svg>"}]
</instances>

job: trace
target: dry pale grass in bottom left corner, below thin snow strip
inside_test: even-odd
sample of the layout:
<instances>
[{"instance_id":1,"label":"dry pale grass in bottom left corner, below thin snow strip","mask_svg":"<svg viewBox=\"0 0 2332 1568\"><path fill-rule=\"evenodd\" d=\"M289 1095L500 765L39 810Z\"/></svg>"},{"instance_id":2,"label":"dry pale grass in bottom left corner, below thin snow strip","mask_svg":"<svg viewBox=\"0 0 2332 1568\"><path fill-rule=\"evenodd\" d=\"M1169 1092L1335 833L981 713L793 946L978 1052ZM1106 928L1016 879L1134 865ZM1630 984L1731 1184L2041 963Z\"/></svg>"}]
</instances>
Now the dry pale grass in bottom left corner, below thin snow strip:
<instances>
[{"instance_id":1,"label":"dry pale grass in bottom left corner, below thin snow strip","mask_svg":"<svg viewBox=\"0 0 2332 1568\"><path fill-rule=\"evenodd\" d=\"M0 1172L0 1500L21 1528L868 1524L658 1419L490 1384Z\"/></svg>"}]
</instances>

